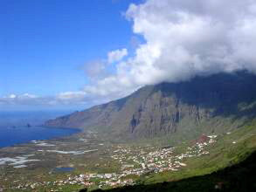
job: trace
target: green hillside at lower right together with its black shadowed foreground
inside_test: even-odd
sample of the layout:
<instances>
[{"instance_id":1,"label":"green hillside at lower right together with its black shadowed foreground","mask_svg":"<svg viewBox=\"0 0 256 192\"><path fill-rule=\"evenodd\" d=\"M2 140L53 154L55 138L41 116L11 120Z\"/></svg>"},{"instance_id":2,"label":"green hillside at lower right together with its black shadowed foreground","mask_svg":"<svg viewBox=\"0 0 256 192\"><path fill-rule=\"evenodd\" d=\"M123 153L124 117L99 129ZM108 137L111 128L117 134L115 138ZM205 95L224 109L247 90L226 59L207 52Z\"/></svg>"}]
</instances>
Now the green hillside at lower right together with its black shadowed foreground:
<instances>
[{"instance_id":1,"label":"green hillside at lower right together with its black shadowed foreground","mask_svg":"<svg viewBox=\"0 0 256 192\"><path fill-rule=\"evenodd\" d=\"M182 153L188 145L184 143L177 147L176 153ZM208 149L209 155L184 161L188 167L179 172L142 175L135 186L109 189L107 192L256 190L255 121L247 127L223 135Z\"/></svg>"}]
</instances>

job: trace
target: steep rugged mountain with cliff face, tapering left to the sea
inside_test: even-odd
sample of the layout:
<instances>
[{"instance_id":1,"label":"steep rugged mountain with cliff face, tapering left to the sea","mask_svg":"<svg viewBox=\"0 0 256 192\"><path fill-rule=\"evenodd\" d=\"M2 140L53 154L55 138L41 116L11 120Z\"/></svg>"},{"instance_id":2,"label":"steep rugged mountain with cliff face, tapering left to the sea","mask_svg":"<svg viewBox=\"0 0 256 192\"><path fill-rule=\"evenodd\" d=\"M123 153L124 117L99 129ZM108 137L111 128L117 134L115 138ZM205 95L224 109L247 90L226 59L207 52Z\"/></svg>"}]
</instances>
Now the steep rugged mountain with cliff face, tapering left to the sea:
<instances>
[{"instance_id":1,"label":"steep rugged mountain with cliff face, tapering left to the sea","mask_svg":"<svg viewBox=\"0 0 256 192\"><path fill-rule=\"evenodd\" d=\"M256 76L247 72L145 86L126 98L45 123L94 129L115 138L221 133L256 114Z\"/></svg>"}]
</instances>

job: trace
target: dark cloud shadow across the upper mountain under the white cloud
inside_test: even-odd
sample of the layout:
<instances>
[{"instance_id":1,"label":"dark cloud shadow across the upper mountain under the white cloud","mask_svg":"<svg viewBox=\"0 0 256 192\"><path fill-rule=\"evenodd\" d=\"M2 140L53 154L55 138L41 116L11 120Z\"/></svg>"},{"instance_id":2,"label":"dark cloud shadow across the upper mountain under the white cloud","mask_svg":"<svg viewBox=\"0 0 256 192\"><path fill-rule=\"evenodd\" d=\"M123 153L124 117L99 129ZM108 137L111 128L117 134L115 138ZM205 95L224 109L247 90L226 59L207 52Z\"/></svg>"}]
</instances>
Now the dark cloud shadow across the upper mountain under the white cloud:
<instances>
[{"instance_id":1,"label":"dark cloud shadow across the upper mountain under the white cloud","mask_svg":"<svg viewBox=\"0 0 256 192\"><path fill-rule=\"evenodd\" d=\"M155 87L163 96L175 95L176 105L180 102L190 106L214 109L213 116L238 118L255 117L256 106L239 110L238 104L252 104L256 100L256 75L239 71L236 73L218 73L208 77L196 77L179 83L162 83Z\"/></svg>"}]
</instances>

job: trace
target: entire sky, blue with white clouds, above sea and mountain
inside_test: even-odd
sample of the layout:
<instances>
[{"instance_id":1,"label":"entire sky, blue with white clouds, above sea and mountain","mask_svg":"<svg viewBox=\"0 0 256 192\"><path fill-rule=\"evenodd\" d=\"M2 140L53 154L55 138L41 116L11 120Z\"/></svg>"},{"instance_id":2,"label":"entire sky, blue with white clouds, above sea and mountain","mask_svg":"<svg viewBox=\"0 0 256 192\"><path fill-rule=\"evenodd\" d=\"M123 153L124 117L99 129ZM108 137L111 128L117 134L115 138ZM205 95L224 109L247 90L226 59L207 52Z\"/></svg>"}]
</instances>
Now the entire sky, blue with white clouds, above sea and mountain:
<instances>
[{"instance_id":1,"label":"entire sky, blue with white clouds, above sea and mountain","mask_svg":"<svg viewBox=\"0 0 256 192\"><path fill-rule=\"evenodd\" d=\"M163 81L256 72L253 0L1 0L0 24L2 110L80 110Z\"/></svg>"}]
</instances>

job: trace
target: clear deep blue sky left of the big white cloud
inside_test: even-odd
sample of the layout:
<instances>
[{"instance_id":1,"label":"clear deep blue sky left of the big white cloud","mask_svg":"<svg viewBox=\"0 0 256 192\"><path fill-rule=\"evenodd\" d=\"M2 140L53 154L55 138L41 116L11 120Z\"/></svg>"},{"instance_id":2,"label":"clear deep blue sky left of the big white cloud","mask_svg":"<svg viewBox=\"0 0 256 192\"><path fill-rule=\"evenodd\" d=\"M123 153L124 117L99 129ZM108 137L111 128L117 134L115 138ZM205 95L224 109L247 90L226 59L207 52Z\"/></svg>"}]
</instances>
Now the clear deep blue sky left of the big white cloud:
<instances>
[{"instance_id":1,"label":"clear deep blue sky left of the big white cloud","mask_svg":"<svg viewBox=\"0 0 256 192\"><path fill-rule=\"evenodd\" d=\"M128 47L130 0L1 0L0 94L54 95L86 84L80 66Z\"/></svg>"}]
</instances>

